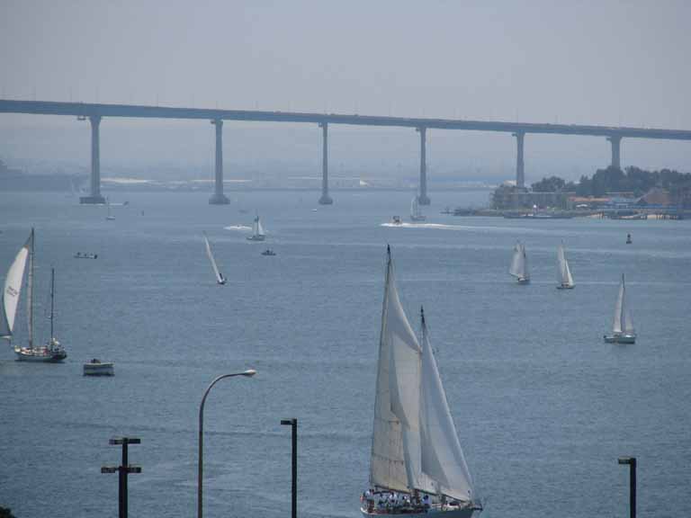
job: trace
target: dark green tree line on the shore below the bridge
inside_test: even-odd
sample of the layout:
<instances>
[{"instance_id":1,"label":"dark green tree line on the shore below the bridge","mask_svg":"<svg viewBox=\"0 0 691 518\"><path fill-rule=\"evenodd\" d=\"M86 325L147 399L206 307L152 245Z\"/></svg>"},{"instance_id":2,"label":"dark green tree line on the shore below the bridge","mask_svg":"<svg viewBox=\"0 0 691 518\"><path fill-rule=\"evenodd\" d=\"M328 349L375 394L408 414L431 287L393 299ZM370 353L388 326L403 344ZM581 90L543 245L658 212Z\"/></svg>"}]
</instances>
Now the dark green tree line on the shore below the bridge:
<instances>
[{"instance_id":1,"label":"dark green tree line on the shore below the bridge","mask_svg":"<svg viewBox=\"0 0 691 518\"><path fill-rule=\"evenodd\" d=\"M673 195L691 193L691 173L679 173L672 169L646 171L629 166L624 170L609 166L597 169L592 178L584 174L578 183L566 182L559 176L544 177L531 184L533 192L573 192L577 196L604 196L607 192L633 192L642 196L657 187Z\"/></svg>"}]
</instances>

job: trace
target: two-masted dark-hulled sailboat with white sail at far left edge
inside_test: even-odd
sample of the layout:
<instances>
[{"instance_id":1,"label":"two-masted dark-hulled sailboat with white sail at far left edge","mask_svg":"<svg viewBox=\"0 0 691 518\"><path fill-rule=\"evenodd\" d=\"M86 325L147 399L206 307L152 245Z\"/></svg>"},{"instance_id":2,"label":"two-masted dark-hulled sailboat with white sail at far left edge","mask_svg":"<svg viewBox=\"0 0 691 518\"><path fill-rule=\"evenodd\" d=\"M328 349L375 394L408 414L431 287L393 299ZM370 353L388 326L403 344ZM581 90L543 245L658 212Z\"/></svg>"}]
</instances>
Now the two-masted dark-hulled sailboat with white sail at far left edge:
<instances>
[{"instance_id":1,"label":"two-masted dark-hulled sailboat with white sail at far left edge","mask_svg":"<svg viewBox=\"0 0 691 518\"><path fill-rule=\"evenodd\" d=\"M54 300L55 300L55 270L52 270L50 279L50 339L48 344L34 344L33 336L33 260L34 260L34 232L14 257L14 261L4 280L3 300L0 305L0 336L12 343L14 319L17 316L17 306L22 292L22 281L27 263L29 265L26 275L26 306L29 344L26 347L14 346L17 360L24 362L62 362L67 358L65 349L60 345L54 334Z\"/></svg>"}]
</instances>

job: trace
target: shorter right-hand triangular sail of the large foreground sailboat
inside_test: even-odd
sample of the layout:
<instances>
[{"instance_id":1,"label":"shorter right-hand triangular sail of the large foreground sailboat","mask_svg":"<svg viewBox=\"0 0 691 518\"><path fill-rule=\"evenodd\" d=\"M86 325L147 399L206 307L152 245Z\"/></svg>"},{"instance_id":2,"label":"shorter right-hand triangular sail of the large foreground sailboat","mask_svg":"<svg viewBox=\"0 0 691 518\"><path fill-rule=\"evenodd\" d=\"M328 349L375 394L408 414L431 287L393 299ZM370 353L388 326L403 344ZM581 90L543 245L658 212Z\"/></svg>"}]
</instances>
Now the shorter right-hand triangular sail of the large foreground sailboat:
<instances>
[{"instance_id":1,"label":"shorter right-hand triangular sail of the large foreground sailboat","mask_svg":"<svg viewBox=\"0 0 691 518\"><path fill-rule=\"evenodd\" d=\"M472 480L453 424L435 354L422 323L422 401L420 438L422 471L439 491L459 500L472 500Z\"/></svg>"}]
</instances>

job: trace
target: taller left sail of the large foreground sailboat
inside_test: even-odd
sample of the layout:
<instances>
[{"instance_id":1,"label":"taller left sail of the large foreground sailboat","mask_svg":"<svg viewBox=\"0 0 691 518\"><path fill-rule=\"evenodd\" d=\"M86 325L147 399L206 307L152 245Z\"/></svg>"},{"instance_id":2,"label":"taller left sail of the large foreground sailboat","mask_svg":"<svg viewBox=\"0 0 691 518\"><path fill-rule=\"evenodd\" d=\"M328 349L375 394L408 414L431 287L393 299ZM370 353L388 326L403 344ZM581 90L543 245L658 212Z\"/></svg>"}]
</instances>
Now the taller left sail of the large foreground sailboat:
<instances>
[{"instance_id":1,"label":"taller left sail of the large foreground sailboat","mask_svg":"<svg viewBox=\"0 0 691 518\"><path fill-rule=\"evenodd\" d=\"M421 350L400 305L393 263L387 263L374 401L370 483L396 491L432 492L420 467Z\"/></svg>"}]
</instances>

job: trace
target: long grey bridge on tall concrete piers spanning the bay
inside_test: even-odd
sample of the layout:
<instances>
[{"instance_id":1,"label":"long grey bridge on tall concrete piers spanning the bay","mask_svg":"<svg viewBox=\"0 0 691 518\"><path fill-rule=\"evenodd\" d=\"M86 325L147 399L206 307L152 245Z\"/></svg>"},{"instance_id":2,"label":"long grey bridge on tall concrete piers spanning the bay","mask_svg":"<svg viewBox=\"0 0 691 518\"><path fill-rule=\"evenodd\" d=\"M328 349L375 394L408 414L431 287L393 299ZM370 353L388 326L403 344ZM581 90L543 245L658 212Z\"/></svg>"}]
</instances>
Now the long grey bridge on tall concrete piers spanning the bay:
<instances>
[{"instance_id":1,"label":"long grey bridge on tall concrete piers spanning the bay","mask_svg":"<svg viewBox=\"0 0 691 518\"><path fill-rule=\"evenodd\" d=\"M259 110L219 110L180 108L136 104L61 103L52 101L19 101L0 99L0 113L26 113L37 115L68 115L91 122L91 192L81 198L82 203L104 203L101 195L99 127L103 117L157 118L180 120L207 120L216 127L216 156L214 192L211 204L228 203L223 194L223 121L301 122L319 124L322 129L322 177L319 203L330 205L328 193L328 125L378 126L417 129L420 134L419 203L428 204L426 171L426 130L462 129L466 131L495 131L511 133L516 137L516 185L525 186L524 139L525 134L581 135L605 137L612 147L611 166L621 168L622 138L650 138L664 140L691 140L691 130L653 129L625 126L595 126L583 124L546 124L537 122L469 121L461 119L423 119L384 117L377 115L265 112Z\"/></svg>"}]
</instances>

